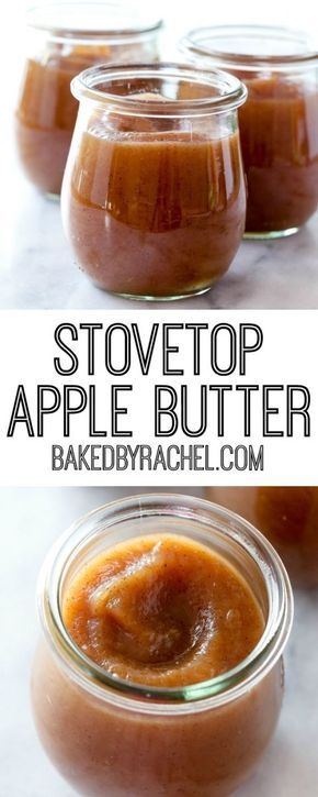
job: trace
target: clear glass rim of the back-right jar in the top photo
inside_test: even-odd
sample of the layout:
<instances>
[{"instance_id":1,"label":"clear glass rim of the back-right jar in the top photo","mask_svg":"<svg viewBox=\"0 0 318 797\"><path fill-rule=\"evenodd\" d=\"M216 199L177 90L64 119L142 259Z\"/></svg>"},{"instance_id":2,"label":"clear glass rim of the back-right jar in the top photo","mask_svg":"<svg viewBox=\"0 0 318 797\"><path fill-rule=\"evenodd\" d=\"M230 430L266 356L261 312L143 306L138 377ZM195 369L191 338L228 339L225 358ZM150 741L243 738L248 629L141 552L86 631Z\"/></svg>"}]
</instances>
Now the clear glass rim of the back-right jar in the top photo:
<instances>
[{"instance_id":1,"label":"clear glass rim of the back-right jar in the top photo","mask_svg":"<svg viewBox=\"0 0 318 797\"><path fill-rule=\"evenodd\" d=\"M218 47L218 40L228 38L232 42L232 48ZM272 44L282 43L282 52L262 53L242 52L238 47L239 40L245 42L257 42L260 47L260 41L268 48L269 42ZM288 44L298 45L294 47L295 52L284 52ZM317 67L318 52L310 48L309 36L303 31L289 27L280 27L276 25L212 25L192 29L180 41L180 49L188 53L194 58L204 58L204 63L220 65L223 68L232 69L240 67L247 71L253 71L260 68L273 67L279 70L288 70L292 68Z\"/></svg>"}]
</instances>

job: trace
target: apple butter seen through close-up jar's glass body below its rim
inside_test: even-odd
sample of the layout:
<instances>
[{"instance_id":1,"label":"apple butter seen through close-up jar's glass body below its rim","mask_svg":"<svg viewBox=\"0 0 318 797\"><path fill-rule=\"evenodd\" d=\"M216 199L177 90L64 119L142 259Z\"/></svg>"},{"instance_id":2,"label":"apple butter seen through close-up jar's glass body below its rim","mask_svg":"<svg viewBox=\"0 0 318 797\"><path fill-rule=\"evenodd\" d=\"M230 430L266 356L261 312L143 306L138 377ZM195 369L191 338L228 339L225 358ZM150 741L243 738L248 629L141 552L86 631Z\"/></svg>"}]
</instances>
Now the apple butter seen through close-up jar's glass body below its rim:
<instances>
[{"instance_id":1,"label":"apple butter seen through close-up jar's glass body below its rim","mask_svg":"<svg viewBox=\"0 0 318 797\"><path fill-rule=\"evenodd\" d=\"M279 661L255 687L212 710L158 713L100 701L67 677L46 645L33 668L41 741L86 797L229 797L273 735L283 697ZM161 710L160 710L161 709Z\"/></svg>"}]
</instances>

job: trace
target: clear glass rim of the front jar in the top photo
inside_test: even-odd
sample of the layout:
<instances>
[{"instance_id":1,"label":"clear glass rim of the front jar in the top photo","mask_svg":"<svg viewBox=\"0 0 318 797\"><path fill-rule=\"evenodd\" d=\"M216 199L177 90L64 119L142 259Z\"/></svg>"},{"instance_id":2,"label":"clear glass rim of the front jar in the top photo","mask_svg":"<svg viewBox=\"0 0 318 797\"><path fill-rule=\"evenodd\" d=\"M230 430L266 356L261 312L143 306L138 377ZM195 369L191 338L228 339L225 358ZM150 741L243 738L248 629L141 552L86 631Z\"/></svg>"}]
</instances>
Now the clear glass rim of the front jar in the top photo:
<instances>
[{"instance_id":1,"label":"clear glass rim of the front jar in the top photo","mask_svg":"<svg viewBox=\"0 0 318 797\"><path fill-rule=\"evenodd\" d=\"M138 81L157 78L170 81L191 82L204 86L207 96L195 99L175 99L168 96L162 100L147 97L143 99ZM137 88L134 91L134 80ZM130 95L121 96L112 92L111 85L127 81ZM109 90L99 88L100 85ZM212 91L216 92L215 95ZM102 64L84 69L71 81L71 91L78 99L90 99L95 102L106 102L112 112L138 117L178 117L178 115L206 115L220 113L241 106L247 98L243 84L232 75L219 69L196 69L189 64L159 62L152 64L121 64L113 66ZM167 87L166 87L167 91ZM208 93L209 92L209 93ZM146 92L145 92L146 93ZM158 92L159 96L159 92Z\"/></svg>"}]
</instances>

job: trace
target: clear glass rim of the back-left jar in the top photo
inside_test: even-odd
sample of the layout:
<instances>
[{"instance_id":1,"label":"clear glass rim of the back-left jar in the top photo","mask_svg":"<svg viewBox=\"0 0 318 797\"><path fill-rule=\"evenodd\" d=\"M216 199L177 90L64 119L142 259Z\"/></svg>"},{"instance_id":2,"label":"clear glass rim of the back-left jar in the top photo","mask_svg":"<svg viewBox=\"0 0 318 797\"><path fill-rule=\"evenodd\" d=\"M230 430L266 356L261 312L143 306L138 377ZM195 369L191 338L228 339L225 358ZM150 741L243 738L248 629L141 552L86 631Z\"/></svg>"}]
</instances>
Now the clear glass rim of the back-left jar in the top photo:
<instances>
[{"instance_id":1,"label":"clear glass rim of the back-left jar in the top photo","mask_svg":"<svg viewBox=\"0 0 318 797\"><path fill-rule=\"evenodd\" d=\"M155 33L163 25L156 13L141 13L140 5L132 5L127 0L56 0L30 7L26 20L29 26L61 40L126 40Z\"/></svg>"}]
</instances>

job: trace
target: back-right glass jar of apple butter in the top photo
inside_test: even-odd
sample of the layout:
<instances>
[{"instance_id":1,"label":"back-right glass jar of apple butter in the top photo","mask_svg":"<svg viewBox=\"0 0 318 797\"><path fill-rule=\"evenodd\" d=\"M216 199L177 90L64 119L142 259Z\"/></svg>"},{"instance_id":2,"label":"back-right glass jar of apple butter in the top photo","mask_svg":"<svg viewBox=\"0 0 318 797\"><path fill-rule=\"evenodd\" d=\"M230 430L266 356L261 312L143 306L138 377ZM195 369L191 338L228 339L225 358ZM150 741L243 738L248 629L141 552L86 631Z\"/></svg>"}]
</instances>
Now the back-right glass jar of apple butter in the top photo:
<instances>
[{"instance_id":1,"label":"back-right glass jar of apple butter in the top photo","mask_svg":"<svg viewBox=\"0 0 318 797\"><path fill-rule=\"evenodd\" d=\"M305 34L259 25L197 29L181 49L197 66L228 69L248 88L239 111L246 236L297 232L318 207L318 53Z\"/></svg>"}]
</instances>

